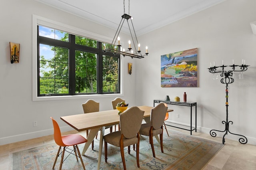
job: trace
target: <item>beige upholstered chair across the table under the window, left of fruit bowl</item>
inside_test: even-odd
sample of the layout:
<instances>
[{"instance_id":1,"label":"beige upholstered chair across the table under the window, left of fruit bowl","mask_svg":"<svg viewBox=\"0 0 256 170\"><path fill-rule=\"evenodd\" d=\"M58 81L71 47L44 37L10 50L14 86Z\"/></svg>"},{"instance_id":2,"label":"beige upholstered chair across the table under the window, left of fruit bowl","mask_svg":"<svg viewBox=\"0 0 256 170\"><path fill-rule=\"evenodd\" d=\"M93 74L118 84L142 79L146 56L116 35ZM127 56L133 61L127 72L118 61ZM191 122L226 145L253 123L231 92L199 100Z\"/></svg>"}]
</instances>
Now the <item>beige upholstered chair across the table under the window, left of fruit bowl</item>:
<instances>
[{"instance_id":1,"label":"beige upholstered chair across the table under the window, left of fruit bowl","mask_svg":"<svg viewBox=\"0 0 256 170\"><path fill-rule=\"evenodd\" d=\"M82 104L84 113L92 113L100 111L100 103L96 102L92 99L87 100L85 103ZM106 127L109 128L109 127ZM112 132L112 126L110 127L110 132ZM86 130L86 137L88 137L89 130ZM97 138L97 135L96 135ZM94 140L92 140L92 150L94 148Z\"/></svg>"}]
</instances>

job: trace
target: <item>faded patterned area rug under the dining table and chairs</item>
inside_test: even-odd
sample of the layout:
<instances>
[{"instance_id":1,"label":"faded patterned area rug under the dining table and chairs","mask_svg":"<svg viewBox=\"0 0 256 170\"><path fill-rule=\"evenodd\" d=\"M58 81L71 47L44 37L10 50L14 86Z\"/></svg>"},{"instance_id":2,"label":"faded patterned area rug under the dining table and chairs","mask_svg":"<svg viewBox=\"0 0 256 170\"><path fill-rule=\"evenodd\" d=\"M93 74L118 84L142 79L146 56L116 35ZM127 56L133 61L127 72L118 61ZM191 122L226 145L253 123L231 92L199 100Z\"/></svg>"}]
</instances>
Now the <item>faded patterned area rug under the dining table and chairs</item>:
<instances>
[{"instance_id":1,"label":"faded patterned area rug under the dining table and chairs","mask_svg":"<svg viewBox=\"0 0 256 170\"><path fill-rule=\"evenodd\" d=\"M164 134L164 153L161 152L160 144L154 139L156 158L153 157L148 136L140 137L140 168L136 164L136 152L132 150L128 154L127 147L124 150L126 168L128 170L200 170L214 157L224 146L221 143L198 138L193 135L169 130L170 137ZM82 152L84 144L80 144ZM96 170L98 161L99 139L94 140L94 150L88 148L82 156L86 170ZM48 144L12 154L11 170L50 170L54 163L58 146ZM67 154L67 153L65 153ZM59 169L60 157L55 169ZM62 170L82 170L80 160L76 161L74 155L68 156L62 165ZM101 170L122 170L122 158L120 149L108 144L108 162L104 160L104 146L100 163Z\"/></svg>"}]
</instances>

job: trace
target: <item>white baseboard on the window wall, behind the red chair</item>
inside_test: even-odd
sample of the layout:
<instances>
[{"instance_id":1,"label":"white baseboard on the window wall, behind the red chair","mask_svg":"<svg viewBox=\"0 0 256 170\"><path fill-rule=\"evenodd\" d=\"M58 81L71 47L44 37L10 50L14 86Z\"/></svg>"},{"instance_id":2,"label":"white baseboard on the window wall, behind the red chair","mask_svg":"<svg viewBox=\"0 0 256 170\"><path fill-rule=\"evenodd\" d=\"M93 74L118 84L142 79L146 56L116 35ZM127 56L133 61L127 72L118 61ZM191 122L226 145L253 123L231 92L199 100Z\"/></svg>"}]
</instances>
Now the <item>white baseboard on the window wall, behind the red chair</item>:
<instances>
[{"instance_id":1,"label":"white baseboard on the window wall, behind the red chair","mask_svg":"<svg viewBox=\"0 0 256 170\"><path fill-rule=\"evenodd\" d=\"M74 130L74 129L71 128L70 126L65 126L65 127L60 127L60 130L62 132L66 132L66 131L70 131L70 130ZM36 131L36 132L18 134L18 135L13 135L13 136L7 136L4 138L0 138L0 145L10 144L10 143L14 143L14 142L20 142L20 141L28 140L28 139L32 139L32 138L39 138L42 136L48 136L50 134L53 134L53 128L47 129L47 130L40 130L40 131Z\"/></svg>"}]
</instances>

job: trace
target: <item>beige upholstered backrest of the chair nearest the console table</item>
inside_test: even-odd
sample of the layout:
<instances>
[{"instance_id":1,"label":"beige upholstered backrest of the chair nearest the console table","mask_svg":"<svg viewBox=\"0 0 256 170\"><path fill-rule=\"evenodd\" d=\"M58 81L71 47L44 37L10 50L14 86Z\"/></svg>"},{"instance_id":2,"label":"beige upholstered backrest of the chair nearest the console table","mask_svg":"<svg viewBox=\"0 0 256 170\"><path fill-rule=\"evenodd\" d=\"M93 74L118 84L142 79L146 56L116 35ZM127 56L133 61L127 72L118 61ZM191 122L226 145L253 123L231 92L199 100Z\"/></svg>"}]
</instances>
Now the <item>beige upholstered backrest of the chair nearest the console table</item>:
<instances>
[{"instance_id":1,"label":"beige upholstered backrest of the chair nearest the console table","mask_svg":"<svg viewBox=\"0 0 256 170\"><path fill-rule=\"evenodd\" d=\"M150 125L153 126L154 129L159 129L164 124L167 109L168 107L166 107L164 103L160 103L151 109Z\"/></svg>"}]
</instances>

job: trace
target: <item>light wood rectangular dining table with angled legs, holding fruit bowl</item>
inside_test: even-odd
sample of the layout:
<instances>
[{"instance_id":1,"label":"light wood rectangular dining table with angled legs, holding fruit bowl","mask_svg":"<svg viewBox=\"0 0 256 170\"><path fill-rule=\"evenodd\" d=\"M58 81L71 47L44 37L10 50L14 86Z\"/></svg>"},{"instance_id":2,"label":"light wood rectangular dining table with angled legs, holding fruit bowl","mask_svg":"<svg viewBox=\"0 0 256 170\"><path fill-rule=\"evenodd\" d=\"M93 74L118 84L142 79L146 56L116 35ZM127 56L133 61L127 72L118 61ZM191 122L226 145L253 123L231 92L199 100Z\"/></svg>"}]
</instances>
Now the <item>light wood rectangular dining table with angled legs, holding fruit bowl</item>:
<instances>
[{"instance_id":1,"label":"light wood rectangular dining table with angled legs, holding fruit bowl","mask_svg":"<svg viewBox=\"0 0 256 170\"><path fill-rule=\"evenodd\" d=\"M140 110L144 112L144 120L146 123L150 122L150 113L153 107L150 106L139 106ZM128 108L129 109L129 108ZM168 109L168 112L173 111ZM72 128L76 129L78 132L89 130L87 136L88 142L85 143L82 155L85 154L86 150L94 140L96 134L100 130L100 145L99 145L99 154L98 154L98 170L100 169L102 147L103 147L103 136L105 132L105 127L118 125L120 122L120 117L118 115L118 110L108 110L108 111L99 111L93 113L82 113L78 115L69 115L60 117L60 119L70 125ZM155 136L159 142L158 136Z\"/></svg>"}]
</instances>

